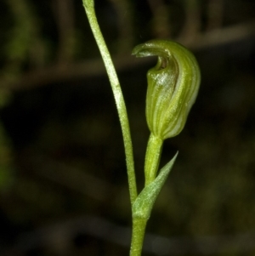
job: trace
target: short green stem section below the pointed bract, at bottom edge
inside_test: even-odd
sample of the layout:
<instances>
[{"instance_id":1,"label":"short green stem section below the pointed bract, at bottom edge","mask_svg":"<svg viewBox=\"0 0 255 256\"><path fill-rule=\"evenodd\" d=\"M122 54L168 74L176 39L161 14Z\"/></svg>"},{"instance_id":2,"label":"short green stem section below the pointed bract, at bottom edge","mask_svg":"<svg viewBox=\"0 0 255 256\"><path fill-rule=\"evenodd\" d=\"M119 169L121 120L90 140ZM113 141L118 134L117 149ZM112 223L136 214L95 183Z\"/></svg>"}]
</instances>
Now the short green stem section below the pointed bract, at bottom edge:
<instances>
[{"instance_id":1,"label":"short green stem section below the pointed bract, at bottom edge","mask_svg":"<svg viewBox=\"0 0 255 256\"><path fill-rule=\"evenodd\" d=\"M144 233L147 219L134 218L132 228L132 241L129 256L140 256L144 243Z\"/></svg>"}]
</instances>

